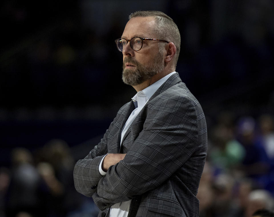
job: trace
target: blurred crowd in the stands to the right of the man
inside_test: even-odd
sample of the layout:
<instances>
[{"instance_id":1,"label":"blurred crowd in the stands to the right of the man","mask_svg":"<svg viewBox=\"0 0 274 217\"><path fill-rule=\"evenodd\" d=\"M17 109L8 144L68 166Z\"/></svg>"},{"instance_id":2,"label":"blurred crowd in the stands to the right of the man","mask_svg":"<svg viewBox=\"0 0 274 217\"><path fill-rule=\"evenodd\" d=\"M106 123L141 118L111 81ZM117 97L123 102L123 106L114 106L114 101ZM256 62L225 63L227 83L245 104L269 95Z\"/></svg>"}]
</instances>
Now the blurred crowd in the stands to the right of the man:
<instances>
[{"instance_id":1,"label":"blurred crowd in the stands to the right of the man","mask_svg":"<svg viewBox=\"0 0 274 217\"><path fill-rule=\"evenodd\" d=\"M198 190L201 217L250 217L274 209L274 119L233 113L209 128L207 162Z\"/></svg>"}]
</instances>

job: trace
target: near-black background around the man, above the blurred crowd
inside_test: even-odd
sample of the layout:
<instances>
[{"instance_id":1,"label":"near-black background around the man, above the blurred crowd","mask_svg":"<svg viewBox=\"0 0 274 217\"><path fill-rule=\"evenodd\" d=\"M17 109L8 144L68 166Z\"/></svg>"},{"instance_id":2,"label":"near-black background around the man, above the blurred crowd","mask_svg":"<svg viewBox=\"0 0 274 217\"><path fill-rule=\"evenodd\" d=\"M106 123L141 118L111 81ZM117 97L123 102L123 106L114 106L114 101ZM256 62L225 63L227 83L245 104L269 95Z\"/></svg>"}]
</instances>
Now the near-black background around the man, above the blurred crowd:
<instances>
[{"instance_id":1,"label":"near-black background around the man, above the blurred crowd","mask_svg":"<svg viewBox=\"0 0 274 217\"><path fill-rule=\"evenodd\" d=\"M76 161L100 141L118 109L135 94L122 82L122 53L114 40L136 10L163 11L178 25L182 41L176 71L204 109L208 156L215 147L210 132L220 120L233 119L234 127L243 117L273 117L272 0L4 0L1 166L11 168L16 147L34 158L40 153L42 160L45 144L60 139ZM67 175L72 178L72 172ZM79 195L73 181L67 189Z\"/></svg>"}]
</instances>

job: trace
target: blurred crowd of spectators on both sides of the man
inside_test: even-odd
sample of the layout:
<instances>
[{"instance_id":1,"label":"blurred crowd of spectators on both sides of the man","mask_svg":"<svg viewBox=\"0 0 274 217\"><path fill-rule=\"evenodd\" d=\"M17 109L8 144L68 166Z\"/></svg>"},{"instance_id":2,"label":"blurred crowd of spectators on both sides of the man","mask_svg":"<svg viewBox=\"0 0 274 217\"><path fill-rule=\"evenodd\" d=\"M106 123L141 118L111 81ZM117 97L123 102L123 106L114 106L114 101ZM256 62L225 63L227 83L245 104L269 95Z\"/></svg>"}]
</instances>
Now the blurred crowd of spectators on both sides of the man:
<instances>
[{"instance_id":1,"label":"blurred crowd of spectators on both sides of the man","mask_svg":"<svg viewBox=\"0 0 274 217\"><path fill-rule=\"evenodd\" d=\"M274 211L274 118L218 115L208 128L208 154L198 190L200 217L250 217ZM90 149L95 144L89 144ZM87 153L86 153L87 154ZM0 169L1 217L97 216L91 198L74 189L74 159L63 140L30 152L12 150ZM41 211L43 210L43 211Z\"/></svg>"}]
</instances>

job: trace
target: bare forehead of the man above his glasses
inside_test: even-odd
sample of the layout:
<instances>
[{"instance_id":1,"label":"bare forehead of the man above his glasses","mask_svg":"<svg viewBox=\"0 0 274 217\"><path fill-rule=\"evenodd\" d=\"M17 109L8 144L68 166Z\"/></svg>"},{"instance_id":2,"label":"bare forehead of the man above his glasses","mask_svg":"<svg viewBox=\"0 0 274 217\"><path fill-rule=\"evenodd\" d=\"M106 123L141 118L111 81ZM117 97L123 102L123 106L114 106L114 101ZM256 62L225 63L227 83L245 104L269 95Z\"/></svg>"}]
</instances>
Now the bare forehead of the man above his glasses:
<instances>
[{"instance_id":1,"label":"bare forehead of the man above his glasses","mask_svg":"<svg viewBox=\"0 0 274 217\"><path fill-rule=\"evenodd\" d=\"M133 17L125 26L122 37L156 37L154 17Z\"/></svg>"}]
</instances>

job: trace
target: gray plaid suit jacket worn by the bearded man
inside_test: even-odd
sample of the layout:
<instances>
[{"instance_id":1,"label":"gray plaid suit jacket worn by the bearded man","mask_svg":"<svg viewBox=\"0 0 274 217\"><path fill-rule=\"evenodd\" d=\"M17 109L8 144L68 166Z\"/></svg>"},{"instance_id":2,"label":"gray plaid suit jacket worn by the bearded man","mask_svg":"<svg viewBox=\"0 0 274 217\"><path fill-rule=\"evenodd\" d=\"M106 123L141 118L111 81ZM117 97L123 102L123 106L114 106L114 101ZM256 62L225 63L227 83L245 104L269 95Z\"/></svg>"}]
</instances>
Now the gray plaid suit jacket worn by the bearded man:
<instances>
[{"instance_id":1,"label":"gray plaid suit jacket worn by the bearded man","mask_svg":"<svg viewBox=\"0 0 274 217\"><path fill-rule=\"evenodd\" d=\"M122 106L101 142L76 163L76 190L93 198L102 210L98 216L132 199L128 217L197 217L196 194L207 150L199 102L174 73L138 114L120 148L122 128L133 110L132 101ZM102 176L98 168L107 153L126 156Z\"/></svg>"}]
</instances>

